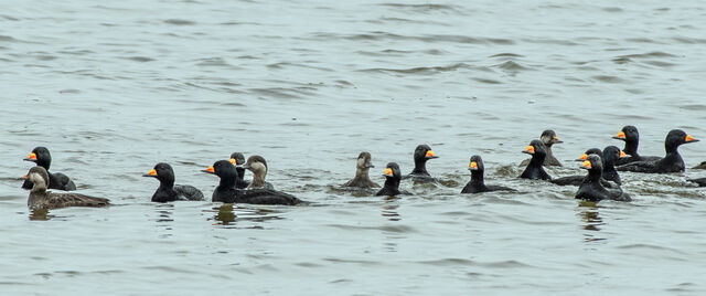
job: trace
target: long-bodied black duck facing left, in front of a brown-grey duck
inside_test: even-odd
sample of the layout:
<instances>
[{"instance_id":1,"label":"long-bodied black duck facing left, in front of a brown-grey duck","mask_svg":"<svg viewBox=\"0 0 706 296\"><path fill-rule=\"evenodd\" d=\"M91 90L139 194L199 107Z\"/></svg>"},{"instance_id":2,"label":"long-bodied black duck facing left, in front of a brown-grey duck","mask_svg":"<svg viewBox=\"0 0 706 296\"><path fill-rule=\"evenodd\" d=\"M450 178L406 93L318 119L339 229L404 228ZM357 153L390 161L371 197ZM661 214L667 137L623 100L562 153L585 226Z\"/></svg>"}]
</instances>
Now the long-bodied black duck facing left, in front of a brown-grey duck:
<instances>
[{"instance_id":1,"label":"long-bodied black duck facing left, in front of a brown-grey duck","mask_svg":"<svg viewBox=\"0 0 706 296\"><path fill-rule=\"evenodd\" d=\"M203 172L215 175L221 179L221 182L213 191L212 201L214 202L285 205L295 205L302 202L292 194L271 189L235 188L238 171L229 160L218 160L203 170Z\"/></svg>"}]
</instances>

